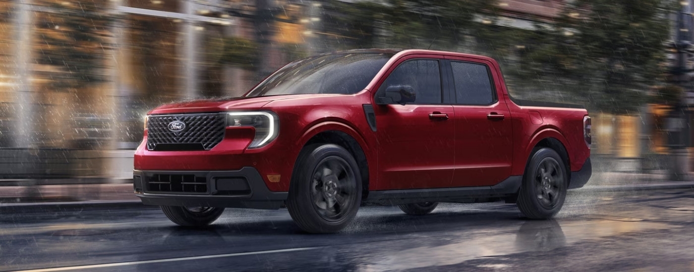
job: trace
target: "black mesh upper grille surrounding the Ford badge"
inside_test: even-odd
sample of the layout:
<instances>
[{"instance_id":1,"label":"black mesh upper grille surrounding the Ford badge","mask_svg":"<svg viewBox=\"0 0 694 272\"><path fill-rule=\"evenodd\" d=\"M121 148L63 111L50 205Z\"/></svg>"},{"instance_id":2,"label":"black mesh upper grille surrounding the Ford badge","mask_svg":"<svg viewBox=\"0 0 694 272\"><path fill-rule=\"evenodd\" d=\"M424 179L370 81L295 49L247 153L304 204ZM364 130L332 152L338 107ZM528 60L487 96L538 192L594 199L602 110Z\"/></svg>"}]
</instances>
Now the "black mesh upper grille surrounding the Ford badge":
<instances>
[{"instance_id":1,"label":"black mesh upper grille surrounding the Ford badge","mask_svg":"<svg viewBox=\"0 0 694 272\"><path fill-rule=\"evenodd\" d=\"M169 129L172 122L182 122L179 132ZM226 114L176 114L149 116L147 122L147 149L209 150L224 138Z\"/></svg>"}]
</instances>

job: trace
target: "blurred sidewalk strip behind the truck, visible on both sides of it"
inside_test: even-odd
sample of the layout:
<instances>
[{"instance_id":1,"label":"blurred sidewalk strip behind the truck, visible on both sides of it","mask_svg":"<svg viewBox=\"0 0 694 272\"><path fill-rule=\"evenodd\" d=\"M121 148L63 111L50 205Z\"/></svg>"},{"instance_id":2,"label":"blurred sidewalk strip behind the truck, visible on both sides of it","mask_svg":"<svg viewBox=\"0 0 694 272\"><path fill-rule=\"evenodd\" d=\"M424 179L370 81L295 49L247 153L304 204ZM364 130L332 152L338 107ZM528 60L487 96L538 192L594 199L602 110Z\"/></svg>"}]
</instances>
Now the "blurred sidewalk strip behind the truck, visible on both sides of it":
<instances>
[{"instance_id":1,"label":"blurred sidewalk strip behind the truck, visible on both sides of it","mask_svg":"<svg viewBox=\"0 0 694 272\"><path fill-rule=\"evenodd\" d=\"M694 179L668 181L666 174L596 172L584 188L572 191L618 192L639 190L694 190ZM0 187L0 208L9 206L117 205L139 203L132 183L70 184Z\"/></svg>"}]
</instances>

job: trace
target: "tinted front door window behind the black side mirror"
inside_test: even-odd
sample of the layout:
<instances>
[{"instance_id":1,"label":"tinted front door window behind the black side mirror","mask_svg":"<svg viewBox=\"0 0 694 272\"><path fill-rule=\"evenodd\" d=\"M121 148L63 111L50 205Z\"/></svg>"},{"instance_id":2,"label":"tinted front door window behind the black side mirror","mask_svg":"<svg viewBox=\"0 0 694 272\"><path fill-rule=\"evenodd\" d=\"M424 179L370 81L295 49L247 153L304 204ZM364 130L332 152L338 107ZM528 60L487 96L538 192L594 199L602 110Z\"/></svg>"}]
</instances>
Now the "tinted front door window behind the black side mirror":
<instances>
[{"instance_id":1,"label":"tinted front door window behind the black side mirror","mask_svg":"<svg viewBox=\"0 0 694 272\"><path fill-rule=\"evenodd\" d=\"M381 84L382 93L390 86L412 87L416 98L411 104L441 104L441 71L438 60L407 60Z\"/></svg>"}]
</instances>

